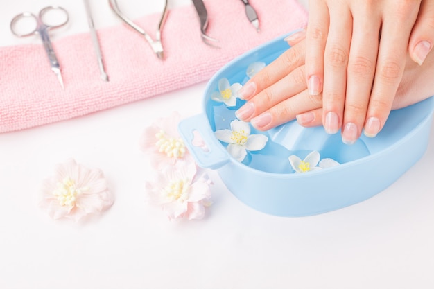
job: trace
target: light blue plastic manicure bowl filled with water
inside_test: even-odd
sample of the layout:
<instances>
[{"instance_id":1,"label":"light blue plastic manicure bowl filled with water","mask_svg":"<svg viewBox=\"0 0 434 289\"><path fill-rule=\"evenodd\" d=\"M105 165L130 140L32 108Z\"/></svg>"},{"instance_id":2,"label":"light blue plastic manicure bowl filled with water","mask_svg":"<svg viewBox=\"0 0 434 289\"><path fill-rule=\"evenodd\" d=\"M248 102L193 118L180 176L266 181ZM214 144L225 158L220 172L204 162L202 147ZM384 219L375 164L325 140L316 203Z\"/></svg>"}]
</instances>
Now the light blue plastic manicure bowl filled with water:
<instances>
[{"instance_id":1,"label":"light blue plastic manicure bowl filled with water","mask_svg":"<svg viewBox=\"0 0 434 289\"><path fill-rule=\"evenodd\" d=\"M269 64L288 49L284 37L268 42L225 65L209 80L203 113L180 122L186 146L202 168L217 169L221 179L239 200L276 216L309 216L356 204L376 195L395 182L424 155L428 145L433 98L390 113L377 137L362 136L354 145L342 143L340 134L329 135L323 128L302 128L295 121L264 133L266 148L252 152L242 163L232 158L214 136L229 128L242 102L228 109L210 96L218 91L218 80L245 82L252 62ZM209 151L193 146L198 131ZM318 150L321 157L340 162L339 166L308 173L291 172L289 155L304 157Z\"/></svg>"}]
</instances>

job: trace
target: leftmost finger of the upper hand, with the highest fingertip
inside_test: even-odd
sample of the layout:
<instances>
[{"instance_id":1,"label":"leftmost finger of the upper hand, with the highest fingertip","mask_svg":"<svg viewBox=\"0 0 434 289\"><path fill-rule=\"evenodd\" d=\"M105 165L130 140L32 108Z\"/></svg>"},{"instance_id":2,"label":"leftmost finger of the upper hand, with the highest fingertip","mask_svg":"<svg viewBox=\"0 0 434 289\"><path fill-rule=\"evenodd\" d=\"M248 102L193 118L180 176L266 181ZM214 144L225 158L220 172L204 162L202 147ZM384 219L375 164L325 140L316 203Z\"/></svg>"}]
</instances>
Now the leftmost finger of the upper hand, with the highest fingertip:
<instances>
[{"instance_id":1,"label":"leftmost finger of the upper hand, with the highest fingertip","mask_svg":"<svg viewBox=\"0 0 434 289\"><path fill-rule=\"evenodd\" d=\"M324 79L324 49L329 32L329 10L324 1L309 1L306 31L306 80L309 94L322 92Z\"/></svg>"}]
</instances>

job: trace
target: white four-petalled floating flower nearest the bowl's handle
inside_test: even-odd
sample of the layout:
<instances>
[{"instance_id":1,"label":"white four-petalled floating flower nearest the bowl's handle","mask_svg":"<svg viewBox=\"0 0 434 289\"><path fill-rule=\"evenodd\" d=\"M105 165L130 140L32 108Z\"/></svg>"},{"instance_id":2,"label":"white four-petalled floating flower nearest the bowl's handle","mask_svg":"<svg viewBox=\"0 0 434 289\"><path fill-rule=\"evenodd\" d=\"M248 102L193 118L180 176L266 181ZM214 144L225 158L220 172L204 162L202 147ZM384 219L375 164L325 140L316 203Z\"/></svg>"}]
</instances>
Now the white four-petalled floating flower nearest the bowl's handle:
<instances>
[{"instance_id":1,"label":"white four-petalled floating flower nearest the bowl's handle","mask_svg":"<svg viewBox=\"0 0 434 289\"><path fill-rule=\"evenodd\" d=\"M230 130L217 130L214 134L220 141L229 143L226 149L237 161L243 161L246 150L262 150L268 141L263 134L250 134L250 125L238 119L231 122Z\"/></svg>"}]
</instances>

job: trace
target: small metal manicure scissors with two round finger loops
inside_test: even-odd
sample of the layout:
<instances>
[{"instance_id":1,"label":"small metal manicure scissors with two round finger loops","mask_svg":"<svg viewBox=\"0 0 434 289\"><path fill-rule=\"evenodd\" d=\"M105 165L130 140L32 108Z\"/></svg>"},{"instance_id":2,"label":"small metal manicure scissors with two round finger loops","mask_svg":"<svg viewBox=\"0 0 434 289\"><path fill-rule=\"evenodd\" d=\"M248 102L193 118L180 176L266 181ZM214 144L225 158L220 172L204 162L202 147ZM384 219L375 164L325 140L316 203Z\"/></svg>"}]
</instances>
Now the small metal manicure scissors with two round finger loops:
<instances>
[{"instance_id":1,"label":"small metal manicure scissors with two round finger loops","mask_svg":"<svg viewBox=\"0 0 434 289\"><path fill-rule=\"evenodd\" d=\"M63 19L59 21L56 20L56 22L58 22L56 24L50 24L48 21L44 20L46 14L49 13L50 11L60 12L60 13L56 12L56 14L62 15L61 18ZM23 31L21 31L21 29L17 28L17 24L19 24L19 22L21 21L25 21L26 18L34 19L35 26L30 31L25 28L23 28L22 29ZM40 35L42 44L44 44L46 55L49 58L51 71L53 71L57 76L60 85L62 86L62 89L64 88L64 85L62 80L62 74L60 73L60 64L58 62L58 58L56 58L55 56L53 46L51 45L49 30L64 26L65 24L67 24L68 20L69 20L69 15L67 10L64 10L64 8L60 6L47 6L45 8L42 8L42 10L40 10L39 12L39 15L37 16L31 12L22 12L19 15L12 18L12 21L10 21L10 30L17 37L26 37L35 34Z\"/></svg>"}]
</instances>

